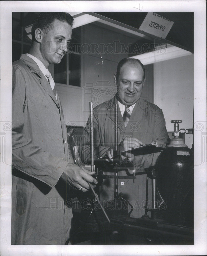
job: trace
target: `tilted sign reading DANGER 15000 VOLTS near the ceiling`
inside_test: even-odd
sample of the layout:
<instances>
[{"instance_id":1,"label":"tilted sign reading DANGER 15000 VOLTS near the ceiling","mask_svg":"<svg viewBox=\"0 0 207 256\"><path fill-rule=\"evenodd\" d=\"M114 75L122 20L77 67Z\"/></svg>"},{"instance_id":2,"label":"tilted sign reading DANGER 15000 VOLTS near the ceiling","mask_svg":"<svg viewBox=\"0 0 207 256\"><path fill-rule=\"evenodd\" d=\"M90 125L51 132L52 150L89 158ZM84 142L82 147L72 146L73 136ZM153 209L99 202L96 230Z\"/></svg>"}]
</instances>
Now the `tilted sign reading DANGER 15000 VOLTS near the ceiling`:
<instances>
[{"instance_id":1,"label":"tilted sign reading DANGER 15000 VOLTS near the ceiling","mask_svg":"<svg viewBox=\"0 0 207 256\"><path fill-rule=\"evenodd\" d=\"M151 35L165 39L174 22L157 13L148 13L140 30Z\"/></svg>"}]
</instances>

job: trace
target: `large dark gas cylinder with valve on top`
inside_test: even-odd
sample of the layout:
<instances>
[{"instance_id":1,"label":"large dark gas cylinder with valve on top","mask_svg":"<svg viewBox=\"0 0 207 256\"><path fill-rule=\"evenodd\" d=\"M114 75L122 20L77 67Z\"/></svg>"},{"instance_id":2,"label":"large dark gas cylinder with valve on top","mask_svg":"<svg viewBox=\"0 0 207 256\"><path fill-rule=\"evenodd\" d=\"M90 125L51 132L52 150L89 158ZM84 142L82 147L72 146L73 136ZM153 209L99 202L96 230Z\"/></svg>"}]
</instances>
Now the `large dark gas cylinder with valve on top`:
<instances>
[{"instance_id":1,"label":"large dark gas cylinder with valve on top","mask_svg":"<svg viewBox=\"0 0 207 256\"><path fill-rule=\"evenodd\" d=\"M193 152L179 137L192 134L192 129L180 129L181 120L174 123L174 138L161 152L156 162L157 192L164 203L157 212L159 219L180 226L193 227Z\"/></svg>"}]
</instances>

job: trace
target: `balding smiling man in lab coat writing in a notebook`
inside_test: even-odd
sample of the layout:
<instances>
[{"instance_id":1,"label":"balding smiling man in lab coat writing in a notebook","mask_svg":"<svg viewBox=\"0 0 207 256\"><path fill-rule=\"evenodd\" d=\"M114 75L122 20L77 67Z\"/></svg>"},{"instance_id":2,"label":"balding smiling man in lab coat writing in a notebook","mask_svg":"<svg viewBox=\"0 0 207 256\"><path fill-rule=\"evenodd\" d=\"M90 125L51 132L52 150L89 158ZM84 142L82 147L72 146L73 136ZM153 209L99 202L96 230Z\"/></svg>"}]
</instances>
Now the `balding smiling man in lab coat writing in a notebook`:
<instances>
[{"instance_id":1,"label":"balding smiling man in lab coat writing in a notebook","mask_svg":"<svg viewBox=\"0 0 207 256\"><path fill-rule=\"evenodd\" d=\"M145 69L137 59L122 59L117 66L114 76L117 93L109 101L94 108L94 145L95 157L106 156L106 161L112 161L114 149L114 108L118 104L118 141L121 151L150 144L157 139L158 146L165 147L169 140L165 127L162 110L148 101L140 98L145 81ZM88 121L89 125L89 121ZM89 129L84 131L79 153L83 162L90 157ZM147 155L127 154L129 161L135 163L135 175L144 171L145 167L154 165L159 153ZM124 157L122 156L122 159ZM104 172L111 174L110 172ZM132 170L122 170L119 175L132 174ZM130 174L129 174L130 173ZM146 174L136 176L135 183L131 179L119 179L119 192L129 200L134 210L132 217L144 214ZM105 179L101 186L100 198L112 200L114 196L114 182Z\"/></svg>"}]
</instances>

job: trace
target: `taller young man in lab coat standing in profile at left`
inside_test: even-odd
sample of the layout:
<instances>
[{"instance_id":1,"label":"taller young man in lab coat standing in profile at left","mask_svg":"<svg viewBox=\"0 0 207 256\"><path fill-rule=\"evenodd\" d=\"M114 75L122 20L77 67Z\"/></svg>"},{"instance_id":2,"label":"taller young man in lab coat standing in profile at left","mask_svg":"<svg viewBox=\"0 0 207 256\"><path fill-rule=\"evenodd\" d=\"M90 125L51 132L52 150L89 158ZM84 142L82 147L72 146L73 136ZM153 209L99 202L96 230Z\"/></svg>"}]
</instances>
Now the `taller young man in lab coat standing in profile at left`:
<instances>
[{"instance_id":1,"label":"taller young man in lab coat standing in profile at left","mask_svg":"<svg viewBox=\"0 0 207 256\"><path fill-rule=\"evenodd\" d=\"M13 63L12 244L65 244L70 187L85 192L88 182L97 183L68 153L63 111L48 70L66 54L72 24L70 14L41 13L32 26L29 54Z\"/></svg>"}]
</instances>

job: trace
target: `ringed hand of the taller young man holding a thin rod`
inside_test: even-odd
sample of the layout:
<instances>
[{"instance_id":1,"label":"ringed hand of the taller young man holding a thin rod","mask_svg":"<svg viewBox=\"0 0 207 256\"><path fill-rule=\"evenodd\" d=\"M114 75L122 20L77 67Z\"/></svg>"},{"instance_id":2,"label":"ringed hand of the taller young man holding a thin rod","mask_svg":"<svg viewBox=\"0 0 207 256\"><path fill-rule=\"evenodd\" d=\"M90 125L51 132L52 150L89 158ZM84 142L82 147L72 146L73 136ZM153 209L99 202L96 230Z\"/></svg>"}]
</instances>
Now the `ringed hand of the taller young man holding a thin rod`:
<instances>
[{"instance_id":1,"label":"ringed hand of the taller young man holding a thin rod","mask_svg":"<svg viewBox=\"0 0 207 256\"><path fill-rule=\"evenodd\" d=\"M83 187L82 191L86 192L89 190L88 182L91 183L93 188L97 184L97 180L92 177L94 174L95 172L81 169L78 166L76 168L76 165L67 165L60 178L73 188L79 189L80 187Z\"/></svg>"}]
</instances>

